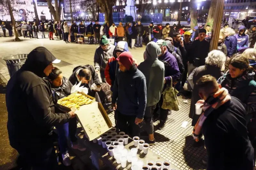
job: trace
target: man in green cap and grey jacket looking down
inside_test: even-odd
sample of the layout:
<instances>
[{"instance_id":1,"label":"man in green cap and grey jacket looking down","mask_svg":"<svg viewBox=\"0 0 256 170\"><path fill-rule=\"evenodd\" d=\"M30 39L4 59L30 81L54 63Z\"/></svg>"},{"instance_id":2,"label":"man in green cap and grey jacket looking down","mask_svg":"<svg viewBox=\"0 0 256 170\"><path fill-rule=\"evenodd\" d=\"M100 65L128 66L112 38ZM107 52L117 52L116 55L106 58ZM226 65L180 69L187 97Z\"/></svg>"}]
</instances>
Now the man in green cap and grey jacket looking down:
<instances>
[{"instance_id":1,"label":"man in green cap and grey jacket looking down","mask_svg":"<svg viewBox=\"0 0 256 170\"><path fill-rule=\"evenodd\" d=\"M113 57L115 46L108 43L108 38L104 35L100 39L100 46L96 49L94 54L95 71L99 74L103 83L106 83L105 69L108 60Z\"/></svg>"}]
</instances>

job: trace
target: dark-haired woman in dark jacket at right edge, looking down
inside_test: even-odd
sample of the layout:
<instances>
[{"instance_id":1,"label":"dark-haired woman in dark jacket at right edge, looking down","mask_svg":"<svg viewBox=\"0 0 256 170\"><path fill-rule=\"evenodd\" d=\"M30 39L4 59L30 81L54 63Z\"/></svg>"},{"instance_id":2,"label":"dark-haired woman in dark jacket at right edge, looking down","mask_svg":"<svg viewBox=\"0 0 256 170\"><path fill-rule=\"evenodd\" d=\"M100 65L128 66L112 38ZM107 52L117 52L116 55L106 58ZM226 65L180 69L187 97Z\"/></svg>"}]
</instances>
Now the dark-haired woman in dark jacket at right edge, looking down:
<instances>
[{"instance_id":1,"label":"dark-haired woman in dark jacket at right edge, looking down","mask_svg":"<svg viewBox=\"0 0 256 170\"><path fill-rule=\"evenodd\" d=\"M241 54L235 55L229 61L228 69L218 79L218 83L243 103L247 111L246 121L249 122L256 111L256 82L253 80L255 72L249 65L249 60Z\"/></svg>"}]
</instances>

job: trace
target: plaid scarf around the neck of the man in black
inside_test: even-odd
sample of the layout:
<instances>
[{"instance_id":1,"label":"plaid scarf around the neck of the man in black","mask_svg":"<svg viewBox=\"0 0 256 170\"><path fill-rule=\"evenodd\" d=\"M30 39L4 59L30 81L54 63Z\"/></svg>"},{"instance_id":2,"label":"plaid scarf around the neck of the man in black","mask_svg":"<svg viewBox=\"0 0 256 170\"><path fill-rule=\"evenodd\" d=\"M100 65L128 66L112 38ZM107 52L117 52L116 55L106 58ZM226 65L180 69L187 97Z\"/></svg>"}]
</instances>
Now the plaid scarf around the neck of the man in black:
<instances>
[{"instance_id":1,"label":"plaid scarf around the neck of the man in black","mask_svg":"<svg viewBox=\"0 0 256 170\"><path fill-rule=\"evenodd\" d=\"M196 142L199 141L199 135L201 133L202 126L207 116L209 116L212 113L212 111L216 110L221 105L231 100L230 95L225 93L228 93L227 89L221 88L219 91L217 91L204 101L203 113L200 115L193 129L193 138L196 140Z\"/></svg>"}]
</instances>

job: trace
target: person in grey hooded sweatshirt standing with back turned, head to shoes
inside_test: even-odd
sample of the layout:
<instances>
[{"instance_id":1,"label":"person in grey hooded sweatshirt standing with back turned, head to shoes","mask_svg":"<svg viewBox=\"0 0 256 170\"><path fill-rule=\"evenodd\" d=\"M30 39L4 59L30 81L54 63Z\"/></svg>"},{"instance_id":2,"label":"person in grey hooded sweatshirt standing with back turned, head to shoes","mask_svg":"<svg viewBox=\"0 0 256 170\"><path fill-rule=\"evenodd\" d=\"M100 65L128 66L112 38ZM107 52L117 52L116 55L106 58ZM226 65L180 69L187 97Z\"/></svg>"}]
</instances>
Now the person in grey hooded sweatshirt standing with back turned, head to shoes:
<instances>
[{"instance_id":1,"label":"person in grey hooded sweatshirt standing with back turned, head to shoes","mask_svg":"<svg viewBox=\"0 0 256 170\"><path fill-rule=\"evenodd\" d=\"M164 63L158 60L161 48L153 41L149 42L144 52L144 61L140 63L138 69L144 74L147 85L147 105L145 109L144 121L148 133L149 145L154 145L153 112L159 102L164 88Z\"/></svg>"}]
</instances>

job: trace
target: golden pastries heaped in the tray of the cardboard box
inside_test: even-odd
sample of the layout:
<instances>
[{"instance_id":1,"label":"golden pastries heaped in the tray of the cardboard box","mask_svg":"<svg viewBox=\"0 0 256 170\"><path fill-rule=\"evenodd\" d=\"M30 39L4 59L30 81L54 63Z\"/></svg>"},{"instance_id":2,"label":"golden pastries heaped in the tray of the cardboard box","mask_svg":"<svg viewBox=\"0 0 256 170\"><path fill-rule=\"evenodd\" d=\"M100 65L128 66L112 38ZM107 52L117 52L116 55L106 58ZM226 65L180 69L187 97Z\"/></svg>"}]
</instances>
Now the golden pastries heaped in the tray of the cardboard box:
<instances>
[{"instance_id":1,"label":"golden pastries heaped in the tray of the cardboard box","mask_svg":"<svg viewBox=\"0 0 256 170\"><path fill-rule=\"evenodd\" d=\"M81 106L88 105L93 102L95 102L94 97L89 96L83 92L75 92L67 97L58 100L57 105L58 109L60 109L61 111L69 112L71 111L72 107L80 109Z\"/></svg>"}]
</instances>

